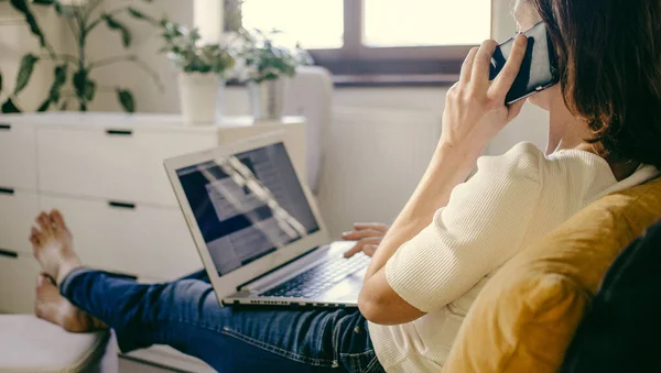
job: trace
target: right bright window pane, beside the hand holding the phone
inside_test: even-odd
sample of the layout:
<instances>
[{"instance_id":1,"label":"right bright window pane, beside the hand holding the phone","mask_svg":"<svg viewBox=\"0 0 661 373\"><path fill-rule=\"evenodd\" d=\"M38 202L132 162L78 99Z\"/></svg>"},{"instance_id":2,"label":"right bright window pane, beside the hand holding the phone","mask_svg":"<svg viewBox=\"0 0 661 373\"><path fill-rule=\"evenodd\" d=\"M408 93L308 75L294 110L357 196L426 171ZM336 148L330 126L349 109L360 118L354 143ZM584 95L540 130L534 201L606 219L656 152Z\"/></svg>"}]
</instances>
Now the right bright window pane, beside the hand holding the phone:
<instances>
[{"instance_id":1,"label":"right bright window pane, beside the hand holding the phone","mask_svg":"<svg viewBox=\"0 0 661 373\"><path fill-rule=\"evenodd\" d=\"M490 34L490 0L365 0L368 46L469 45Z\"/></svg>"}]
</instances>

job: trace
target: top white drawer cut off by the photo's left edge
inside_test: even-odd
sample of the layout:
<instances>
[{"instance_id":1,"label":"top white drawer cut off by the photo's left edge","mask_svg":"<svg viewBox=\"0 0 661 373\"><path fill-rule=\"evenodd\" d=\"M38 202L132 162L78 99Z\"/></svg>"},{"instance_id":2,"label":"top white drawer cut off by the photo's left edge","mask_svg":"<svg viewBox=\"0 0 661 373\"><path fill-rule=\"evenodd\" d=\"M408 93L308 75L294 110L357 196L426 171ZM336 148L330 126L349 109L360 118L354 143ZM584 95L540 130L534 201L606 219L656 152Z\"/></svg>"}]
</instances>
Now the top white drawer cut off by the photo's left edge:
<instances>
[{"instance_id":1,"label":"top white drawer cut off by the photo's left edge","mask_svg":"<svg viewBox=\"0 0 661 373\"><path fill-rule=\"evenodd\" d=\"M36 190L34 129L0 120L0 187Z\"/></svg>"}]
</instances>

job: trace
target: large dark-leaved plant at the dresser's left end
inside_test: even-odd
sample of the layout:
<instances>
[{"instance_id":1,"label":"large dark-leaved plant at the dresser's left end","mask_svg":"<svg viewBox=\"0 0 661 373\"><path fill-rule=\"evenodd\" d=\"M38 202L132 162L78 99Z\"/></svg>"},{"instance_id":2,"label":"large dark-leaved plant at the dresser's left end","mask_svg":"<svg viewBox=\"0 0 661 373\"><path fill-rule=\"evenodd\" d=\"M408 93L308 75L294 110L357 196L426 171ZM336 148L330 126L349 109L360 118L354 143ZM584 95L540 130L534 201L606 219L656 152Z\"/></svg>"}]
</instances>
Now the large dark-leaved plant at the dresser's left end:
<instances>
[{"instance_id":1,"label":"large dark-leaved plant at the dresser's left end","mask_svg":"<svg viewBox=\"0 0 661 373\"><path fill-rule=\"evenodd\" d=\"M3 1L3 0L0 0ZM149 2L148 0L143 0ZM104 59L90 59L88 55L89 35L100 26L117 32L121 36L124 48L132 44L132 34L124 24L122 17L131 17L137 20L153 20L140 9L132 6L115 6L115 2L105 0L11 0L12 8L23 15L32 34L39 40L41 53L30 52L20 62L15 87L12 91L3 90L0 84L0 94L6 96L0 107L1 112L21 112L19 94L28 86L34 69L44 62L54 63L53 80L45 92L45 98L36 111L48 109L67 110L69 106L76 105L79 111L87 111L89 103L95 99L97 92L113 92L122 109L127 112L136 111L133 94L124 88L112 84L99 84L93 72L118 63L131 63L142 69L163 90L163 85L158 74L144 62L133 54L119 55ZM55 12L64 19L76 42L76 48L72 53L56 51L48 42L48 36L34 15L33 6L52 7ZM105 7L107 6L107 7ZM0 83L2 74L0 73Z\"/></svg>"}]
</instances>

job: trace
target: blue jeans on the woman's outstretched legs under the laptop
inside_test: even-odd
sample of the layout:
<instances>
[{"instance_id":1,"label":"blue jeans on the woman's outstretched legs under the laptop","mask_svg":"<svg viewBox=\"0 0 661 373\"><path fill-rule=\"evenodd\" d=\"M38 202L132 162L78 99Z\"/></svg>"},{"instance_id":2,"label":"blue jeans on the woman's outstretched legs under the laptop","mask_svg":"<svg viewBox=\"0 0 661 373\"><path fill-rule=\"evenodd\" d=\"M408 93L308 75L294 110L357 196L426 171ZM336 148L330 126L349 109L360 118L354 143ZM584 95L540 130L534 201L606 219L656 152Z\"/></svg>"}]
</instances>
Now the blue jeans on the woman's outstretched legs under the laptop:
<instances>
[{"instance_id":1,"label":"blue jeans on the woman's outstretched legs under the laptop","mask_svg":"<svg viewBox=\"0 0 661 373\"><path fill-rule=\"evenodd\" d=\"M59 290L122 352L169 344L219 372L384 372L356 309L220 307L204 272L145 285L79 268Z\"/></svg>"}]
</instances>

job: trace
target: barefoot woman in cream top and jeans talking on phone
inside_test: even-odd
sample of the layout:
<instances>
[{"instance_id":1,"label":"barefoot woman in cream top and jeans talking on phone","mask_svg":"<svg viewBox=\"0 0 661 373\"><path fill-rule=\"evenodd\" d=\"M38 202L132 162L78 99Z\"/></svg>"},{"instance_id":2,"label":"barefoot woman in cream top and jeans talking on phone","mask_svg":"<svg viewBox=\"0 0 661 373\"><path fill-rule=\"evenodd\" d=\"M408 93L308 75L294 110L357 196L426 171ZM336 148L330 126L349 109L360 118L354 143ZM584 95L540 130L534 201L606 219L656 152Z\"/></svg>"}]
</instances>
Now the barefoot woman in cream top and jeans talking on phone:
<instances>
[{"instance_id":1,"label":"barefoot woman in cream top and jeans talking on phone","mask_svg":"<svg viewBox=\"0 0 661 373\"><path fill-rule=\"evenodd\" d=\"M520 30L546 22L559 51L561 85L529 99L550 111L546 152L522 143L478 160L523 106L503 102L527 40L494 81L496 42L470 51L418 189L378 248L361 246L373 256L359 311L220 308L202 275L141 285L85 270L53 211L37 217L31 241L64 298L40 277L37 315L69 330L110 327L123 351L170 344L226 372L437 371L486 276L661 166L661 4L520 0L514 13ZM375 229L346 238L366 237L380 241Z\"/></svg>"}]
</instances>

